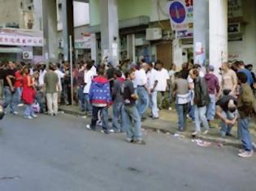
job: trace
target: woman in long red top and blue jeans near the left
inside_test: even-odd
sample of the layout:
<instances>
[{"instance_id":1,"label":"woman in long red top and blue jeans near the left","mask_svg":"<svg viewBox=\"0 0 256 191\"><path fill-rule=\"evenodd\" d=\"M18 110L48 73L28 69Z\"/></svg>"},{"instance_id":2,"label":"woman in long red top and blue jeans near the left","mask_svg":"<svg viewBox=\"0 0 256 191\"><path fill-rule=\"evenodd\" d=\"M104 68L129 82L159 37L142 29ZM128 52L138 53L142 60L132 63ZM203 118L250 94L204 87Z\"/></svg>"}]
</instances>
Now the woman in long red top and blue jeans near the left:
<instances>
[{"instance_id":1,"label":"woman in long red top and blue jeans near the left","mask_svg":"<svg viewBox=\"0 0 256 191\"><path fill-rule=\"evenodd\" d=\"M34 89L34 79L31 77L29 74L28 68L24 68L23 70L23 91L22 91L22 100L24 100L24 104L27 105L25 112L24 112L24 117L27 119L33 119L36 118L37 116L33 112L33 103L35 101L36 97L36 91Z\"/></svg>"}]
</instances>

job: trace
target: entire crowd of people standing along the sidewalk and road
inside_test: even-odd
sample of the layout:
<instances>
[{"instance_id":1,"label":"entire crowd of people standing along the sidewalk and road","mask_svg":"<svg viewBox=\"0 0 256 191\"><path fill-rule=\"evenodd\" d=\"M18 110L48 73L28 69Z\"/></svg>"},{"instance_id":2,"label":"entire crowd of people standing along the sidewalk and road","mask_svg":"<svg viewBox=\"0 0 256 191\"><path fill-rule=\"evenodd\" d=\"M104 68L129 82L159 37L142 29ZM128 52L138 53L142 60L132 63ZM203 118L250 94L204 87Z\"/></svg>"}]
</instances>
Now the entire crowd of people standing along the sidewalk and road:
<instances>
[{"instance_id":1,"label":"entire crowd of people standing along the sidewalk and road","mask_svg":"<svg viewBox=\"0 0 256 191\"><path fill-rule=\"evenodd\" d=\"M237 135L242 149L239 156L253 155L249 134L249 118L256 112L255 74L252 65L244 62L224 62L221 68L202 67L184 63L180 71L173 64L168 71L163 63L137 64L128 60L117 67L111 62L96 66L95 62L78 62L73 67L73 91L69 65L26 65L8 62L2 64L4 108L19 114L17 106L26 104L24 117L33 119L35 112L58 115L59 104L80 105L81 112L91 116L87 129L102 126L102 133L126 132L127 142L145 144L141 121L150 117L158 120L159 110L176 108L177 130L187 128L187 118L194 121L193 136L208 134L215 117L221 120L220 136L233 136L232 126L237 123ZM109 127L108 108L112 107L112 125ZM203 129L203 131L201 130Z\"/></svg>"}]
</instances>

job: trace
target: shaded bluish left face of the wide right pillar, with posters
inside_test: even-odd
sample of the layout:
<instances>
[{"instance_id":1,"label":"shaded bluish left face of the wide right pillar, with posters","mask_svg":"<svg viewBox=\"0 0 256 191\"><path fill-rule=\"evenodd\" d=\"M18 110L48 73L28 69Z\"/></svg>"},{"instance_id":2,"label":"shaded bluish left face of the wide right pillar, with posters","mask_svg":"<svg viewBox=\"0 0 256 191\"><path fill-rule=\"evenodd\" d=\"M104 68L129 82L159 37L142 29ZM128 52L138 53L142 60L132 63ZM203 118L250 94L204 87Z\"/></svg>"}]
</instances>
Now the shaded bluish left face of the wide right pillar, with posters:
<instances>
[{"instance_id":1,"label":"shaded bluish left face of the wide right pillar, with posters","mask_svg":"<svg viewBox=\"0 0 256 191\"><path fill-rule=\"evenodd\" d=\"M193 50L194 64L205 66L209 59L209 0L193 1Z\"/></svg>"}]
</instances>

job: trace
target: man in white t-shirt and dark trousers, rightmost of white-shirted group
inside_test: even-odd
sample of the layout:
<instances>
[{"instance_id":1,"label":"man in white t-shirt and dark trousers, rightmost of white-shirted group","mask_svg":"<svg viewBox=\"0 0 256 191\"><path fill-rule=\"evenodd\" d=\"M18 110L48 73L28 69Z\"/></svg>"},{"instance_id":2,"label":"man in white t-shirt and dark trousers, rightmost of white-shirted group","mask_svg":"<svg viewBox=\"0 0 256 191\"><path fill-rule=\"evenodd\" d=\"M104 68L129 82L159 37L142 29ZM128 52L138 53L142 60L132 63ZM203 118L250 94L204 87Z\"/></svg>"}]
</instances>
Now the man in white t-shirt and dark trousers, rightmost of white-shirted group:
<instances>
[{"instance_id":1,"label":"man in white t-shirt and dark trousers, rightmost of white-shirted group","mask_svg":"<svg viewBox=\"0 0 256 191\"><path fill-rule=\"evenodd\" d=\"M156 63L156 69L157 69L157 79L158 79L158 85L156 87L156 91L159 91L161 93L161 101L160 101L160 108L163 106L163 100L165 98L165 92L169 91L169 73L166 69L163 68L162 62Z\"/></svg>"}]
</instances>

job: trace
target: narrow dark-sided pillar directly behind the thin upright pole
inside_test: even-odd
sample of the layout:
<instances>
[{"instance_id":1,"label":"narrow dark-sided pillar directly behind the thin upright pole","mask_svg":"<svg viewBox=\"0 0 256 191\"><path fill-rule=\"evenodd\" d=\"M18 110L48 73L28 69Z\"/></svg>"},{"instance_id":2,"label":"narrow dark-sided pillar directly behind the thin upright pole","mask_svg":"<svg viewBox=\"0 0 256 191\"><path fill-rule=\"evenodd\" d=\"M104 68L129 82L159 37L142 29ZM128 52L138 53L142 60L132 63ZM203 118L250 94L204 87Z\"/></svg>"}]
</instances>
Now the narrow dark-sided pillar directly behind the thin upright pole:
<instances>
[{"instance_id":1,"label":"narrow dark-sided pillar directly behind the thin upright pole","mask_svg":"<svg viewBox=\"0 0 256 191\"><path fill-rule=\"evenodd\" d=\"M72 36L72 47L74 47L74 18L73 0L61 0L62 23L63 23L63 54L64 61L69 60L69 36Z\"/></svg>"}]
</instances>

